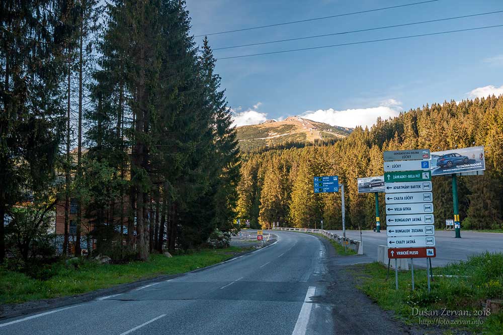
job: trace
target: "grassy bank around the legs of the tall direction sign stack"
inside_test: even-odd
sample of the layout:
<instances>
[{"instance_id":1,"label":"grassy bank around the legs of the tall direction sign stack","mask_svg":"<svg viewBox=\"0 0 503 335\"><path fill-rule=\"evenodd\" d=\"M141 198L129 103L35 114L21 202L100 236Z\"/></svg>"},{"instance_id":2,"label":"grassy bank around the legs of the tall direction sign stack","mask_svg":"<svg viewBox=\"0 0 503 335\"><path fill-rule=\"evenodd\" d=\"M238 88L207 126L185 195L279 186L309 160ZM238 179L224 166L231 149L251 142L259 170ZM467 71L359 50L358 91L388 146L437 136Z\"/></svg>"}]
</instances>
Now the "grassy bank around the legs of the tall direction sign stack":
<instances>
[{"instance_id":1,"label":"grassy bank around the legs of the tall direction sign stack","mask_svg":"<svg viewBox=\"0 0 503 335\"><path fill-rule=\"evenodd\" d=\"M433 269L428 293L426 270L415 270L415 290L410 271L394 271L386 280L386 267L379 263L355 265L351 271L363 290L383 309L392 310L407 324L440 326L445 334L452 329L469 333L502 334L503 310L494 314L482 306L487 299L503 299L503 254L485 253L466 262Z\"/></svg>"}]
</instances>

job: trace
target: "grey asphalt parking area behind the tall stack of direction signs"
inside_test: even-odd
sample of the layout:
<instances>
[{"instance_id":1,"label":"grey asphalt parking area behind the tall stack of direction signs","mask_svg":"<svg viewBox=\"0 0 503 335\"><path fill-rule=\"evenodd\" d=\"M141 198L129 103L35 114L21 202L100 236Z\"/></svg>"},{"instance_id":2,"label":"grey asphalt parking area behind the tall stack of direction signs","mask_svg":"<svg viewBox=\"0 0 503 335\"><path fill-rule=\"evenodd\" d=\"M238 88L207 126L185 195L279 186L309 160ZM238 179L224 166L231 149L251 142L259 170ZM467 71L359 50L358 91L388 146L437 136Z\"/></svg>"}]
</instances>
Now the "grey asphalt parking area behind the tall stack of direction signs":
<instances>
[{"instance_id":1,"label":"grey asphalt parking area behind the tall stack of direction signs","mask_svg":"<svg viewBox=\"0 0 503 335\"><path fill-rule=\"evenodd\" d=\"M342 231L329 231L342 235ZM346 237L360 240L359 231L346 231ZM371 260L377 260L377 246L387 244L386 231L381 233L373 231L362 231L363 252ZM473 231L461 231L461 239L454 238L453 231L435 231L435 242L437 257L432 260L432 266L445 266L448 263L466 261L470 255L480 254L484 251L503 252L503 234L500 233L478 233ZM422 264L417 263L418 266ZM426 261L424 264L426 267Z\"/></svg>"}]
</instances>

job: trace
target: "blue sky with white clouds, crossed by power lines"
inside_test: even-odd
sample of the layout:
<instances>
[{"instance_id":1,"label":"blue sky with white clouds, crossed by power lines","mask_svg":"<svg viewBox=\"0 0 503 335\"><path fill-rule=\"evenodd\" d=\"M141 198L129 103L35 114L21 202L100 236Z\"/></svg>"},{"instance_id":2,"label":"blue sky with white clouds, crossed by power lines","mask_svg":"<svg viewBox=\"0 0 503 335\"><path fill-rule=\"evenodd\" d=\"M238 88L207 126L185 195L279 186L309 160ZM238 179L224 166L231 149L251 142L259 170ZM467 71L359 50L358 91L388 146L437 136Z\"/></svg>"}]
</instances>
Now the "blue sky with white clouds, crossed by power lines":
<instances>
[{"instance_id":1,"label":"blue sky with white clouds, crossed by power lines","mask_svg":"<svg viewBox=\"0 0 503 335\"><path fill-rule=\"evenodd\" d=\"M194 35L422 0L187 0ZM439 0L366 14L209 36L213 49L503 10L501 0ZM503 24L503 13L227 50L216 58ZM503 27L217 61L237 125L303 115L369 126L444 100L503 94ZM196 38L201 43L202 37Z\"/></svg>"}]
</instances>

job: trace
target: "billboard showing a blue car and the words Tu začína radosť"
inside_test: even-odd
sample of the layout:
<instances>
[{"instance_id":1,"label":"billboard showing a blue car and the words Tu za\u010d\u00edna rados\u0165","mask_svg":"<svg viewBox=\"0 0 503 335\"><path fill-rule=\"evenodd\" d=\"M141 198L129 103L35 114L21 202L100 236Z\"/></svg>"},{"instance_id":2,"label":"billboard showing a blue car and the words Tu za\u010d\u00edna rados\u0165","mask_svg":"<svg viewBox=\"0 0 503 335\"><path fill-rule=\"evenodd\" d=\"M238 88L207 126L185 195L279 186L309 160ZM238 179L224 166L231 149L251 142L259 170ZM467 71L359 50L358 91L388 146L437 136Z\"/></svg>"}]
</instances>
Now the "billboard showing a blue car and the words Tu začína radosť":
<instances>
[{"instance_id":1,"label":"billboard showing a blue car and the words Tu za\u010d\u00edna rados\u0165","mask_svg":"<svg viewBox=\"0 0 503 335\"><path fill-rule=\"evenodd\" d=\"M432 152L432 176L485 170L484 147Z\"/></svg>"}]
</instances>

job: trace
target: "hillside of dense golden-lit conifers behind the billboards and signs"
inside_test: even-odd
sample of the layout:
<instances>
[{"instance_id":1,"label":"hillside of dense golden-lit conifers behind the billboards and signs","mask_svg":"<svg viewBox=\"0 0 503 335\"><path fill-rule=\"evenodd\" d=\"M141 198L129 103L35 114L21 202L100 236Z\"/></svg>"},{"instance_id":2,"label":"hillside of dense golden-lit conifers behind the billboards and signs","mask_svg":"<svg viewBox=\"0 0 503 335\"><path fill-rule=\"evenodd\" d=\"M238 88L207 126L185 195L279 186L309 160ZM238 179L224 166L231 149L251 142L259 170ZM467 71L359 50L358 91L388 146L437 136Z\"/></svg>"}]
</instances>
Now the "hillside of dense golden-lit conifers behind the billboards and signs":
<instances>
[{"instance_id":1,"label":"hillside of dense golden-lit conifers behind the billboards and signs","mask_svg":"<svg viewBox=\"0 0 503 335\"><path fill-rule=\"evenodd\" d=\"M483 176L458 177L463 229L501 228L503 210L503 96L426 105L371 129L356 128L333 145L268 150L243 156L238 216L253 225L341 229L341 193L314 194L313 176L339 175L346 185L347 227L375 226L373 194L358 194L357 178L383 174L383 151L440 151L485 146ZM452 218L450 176L433 178L436 225ZM384 197L380 197L381 208ZM381 210L382 212L382 210ZM385 222L381 214L381 222Z\"/></svg>"}]
</instances>

